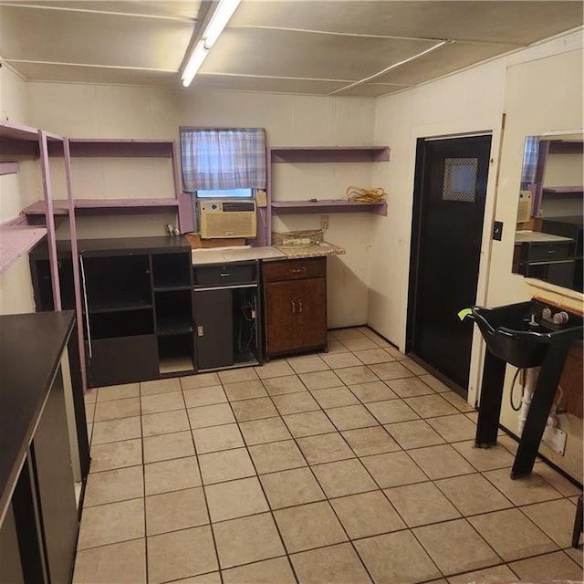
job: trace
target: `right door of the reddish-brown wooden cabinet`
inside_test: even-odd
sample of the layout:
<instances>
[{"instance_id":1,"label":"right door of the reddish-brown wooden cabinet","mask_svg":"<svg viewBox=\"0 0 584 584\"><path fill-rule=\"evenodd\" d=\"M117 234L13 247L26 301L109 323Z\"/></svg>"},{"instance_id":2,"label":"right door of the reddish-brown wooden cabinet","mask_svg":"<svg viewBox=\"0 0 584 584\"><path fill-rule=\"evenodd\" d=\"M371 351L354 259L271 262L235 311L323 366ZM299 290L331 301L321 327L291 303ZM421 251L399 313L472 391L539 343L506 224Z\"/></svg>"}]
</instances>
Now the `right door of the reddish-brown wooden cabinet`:
<instances>
[{"instance_id":1,"label":"right door of the reddish-brown wooden cabinet","mask_svg":"<svg viewBox=\"0 0 584 584\"><path fill-rule=\"evenodd\" d=\"M302 349L327 345L327 286L324 277L297 282L297 331Z\"/></svg>"}]
</instances>

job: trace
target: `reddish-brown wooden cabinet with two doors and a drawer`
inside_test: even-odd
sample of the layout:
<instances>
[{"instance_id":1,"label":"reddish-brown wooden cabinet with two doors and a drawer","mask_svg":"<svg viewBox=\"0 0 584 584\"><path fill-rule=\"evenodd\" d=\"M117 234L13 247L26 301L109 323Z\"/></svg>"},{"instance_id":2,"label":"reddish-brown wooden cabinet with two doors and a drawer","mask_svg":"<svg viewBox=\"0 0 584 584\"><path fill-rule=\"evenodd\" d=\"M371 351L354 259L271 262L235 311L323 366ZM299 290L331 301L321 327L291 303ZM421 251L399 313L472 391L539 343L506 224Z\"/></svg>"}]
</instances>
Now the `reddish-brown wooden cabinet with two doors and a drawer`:
<instances>
[{"instance_id":1,"label":"reddish-brown wooden cabinet with two doors and a drawer","mask_svg":"<svg viewBox=\"0 0 584 584\"><path fill-rule=\"evenodd\" d=\"M327 258L266 262L266 357L327 347Z\"/></svg>"}]
</instances>

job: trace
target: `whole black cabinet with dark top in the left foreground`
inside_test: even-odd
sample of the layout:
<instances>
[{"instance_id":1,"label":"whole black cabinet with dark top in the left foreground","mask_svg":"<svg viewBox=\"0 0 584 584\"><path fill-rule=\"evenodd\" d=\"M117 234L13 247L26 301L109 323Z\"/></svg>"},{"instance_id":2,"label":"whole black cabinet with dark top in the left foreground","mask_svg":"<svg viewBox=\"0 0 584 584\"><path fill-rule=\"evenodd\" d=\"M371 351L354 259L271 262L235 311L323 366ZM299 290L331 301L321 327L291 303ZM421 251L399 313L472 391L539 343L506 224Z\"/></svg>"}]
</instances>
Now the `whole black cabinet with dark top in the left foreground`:
<instances>
[{"instance_id":1,"label":"whole black cabinet with dark top in the left foreground","mask_svg":"<svg viewBox=\"0 0 584 584\"><path fill-rule=\"evenodd\" d=\"M72 577L89 472L83 390L68 358L74 325L72 311L0 317L1 582Z\"/></svg>"}]
</instances>

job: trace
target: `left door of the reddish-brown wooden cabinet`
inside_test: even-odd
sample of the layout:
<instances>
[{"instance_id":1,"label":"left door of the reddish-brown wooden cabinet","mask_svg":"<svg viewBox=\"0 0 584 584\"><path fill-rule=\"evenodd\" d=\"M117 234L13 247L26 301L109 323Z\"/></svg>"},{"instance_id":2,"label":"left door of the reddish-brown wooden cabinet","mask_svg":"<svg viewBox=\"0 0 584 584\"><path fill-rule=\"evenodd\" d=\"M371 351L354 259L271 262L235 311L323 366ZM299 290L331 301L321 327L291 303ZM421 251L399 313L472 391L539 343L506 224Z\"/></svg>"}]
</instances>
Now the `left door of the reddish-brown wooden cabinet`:
<instances>
[{"instance_id":1,"label":"left door of the reddish-brown wooden cabinet","mask_svg":"<svg viewBox=\"0 0 584 584\"><path fill-rule=\"evenodd\" d=\"M298 281L266 284L266 354L297 350Z\"/></svg>"}]
</instances>

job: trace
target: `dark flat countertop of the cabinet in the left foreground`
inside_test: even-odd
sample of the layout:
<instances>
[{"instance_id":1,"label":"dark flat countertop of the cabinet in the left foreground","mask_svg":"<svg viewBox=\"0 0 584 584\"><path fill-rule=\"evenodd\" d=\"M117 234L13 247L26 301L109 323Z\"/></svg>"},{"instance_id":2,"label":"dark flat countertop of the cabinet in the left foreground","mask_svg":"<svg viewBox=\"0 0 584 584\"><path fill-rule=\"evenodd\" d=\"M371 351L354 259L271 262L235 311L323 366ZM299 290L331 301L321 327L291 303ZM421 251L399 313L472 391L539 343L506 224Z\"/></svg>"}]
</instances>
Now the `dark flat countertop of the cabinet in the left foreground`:
<instances>
[{"instance_id":1,"label":"dark flat countertop of the cabinet in the left foreground","mask_svg":"<svg viewBox=\"0 0 584 584\"><path fill-rule=\"evenodd\" d=\"M0 316L0 525L74 322L72 310Z\"/></svg>"}]
</instances>

